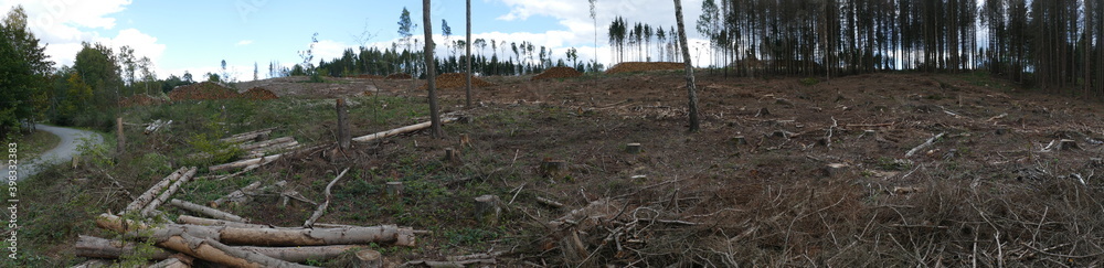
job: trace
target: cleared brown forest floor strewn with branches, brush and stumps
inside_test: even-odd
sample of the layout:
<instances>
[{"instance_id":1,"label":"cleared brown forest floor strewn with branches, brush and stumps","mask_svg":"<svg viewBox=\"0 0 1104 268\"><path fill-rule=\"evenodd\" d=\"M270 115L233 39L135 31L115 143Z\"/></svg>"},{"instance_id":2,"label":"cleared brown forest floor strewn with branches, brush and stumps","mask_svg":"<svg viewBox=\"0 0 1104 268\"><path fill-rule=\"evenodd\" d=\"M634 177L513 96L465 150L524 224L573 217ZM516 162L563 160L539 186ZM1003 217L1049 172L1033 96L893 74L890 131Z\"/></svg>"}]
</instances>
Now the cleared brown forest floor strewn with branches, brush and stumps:
<instances>
[{"instance_id":1,"label":"cleared brown forest floor strewn with branches, brush and stumps","mask_svg":"<svg viewBox=\"0 0 1104 268\"><path fill-rule=\"evenodd\" d=\"M320 201L336 173L351 168L320 223L432 231L412 248L371 245L389 266L476 253L500 254L503 267L1091 267L1104 260L1097 200L1104 180L1095 176L1104 171L1100 103L983 74L698 75L698 133L687 132L678 71L481 77L495 85L475 89L475 108L463 107L463 89L440 92L445 111L471 118L446 125L445 139L422 131L357 143L339 160L285 158L232 180L190 182L178 195L205 203L252 181L286 180ZM233 100L221 119L217 105L202 101L130 111L128 121L189 122L157 137L135 130L146 139L134 146L135 163L47 172L56 179L39 180L31 187L41 190L26 194L65 202L24 208L42 210L26 216L33 226L26 233L45 236L30 242L40 245L28 254L54 265L82 260L72 253L76 235L112 236L89 223L92 215L129 200L110 183L72 179L112 174L129 192L142 192L171 167L203 164L178 157L193 152L188 147L213 121L233 126L222 132L276 126L274 135L323 144L333 142L333 97L350 99L354 137L425 120L425 93L411 89L411 81L333 81L355 88L259 82L282 99ZM460 147L461 133L470 146ZM641 152L626 152L628 143L640 143ZM457 148L459 161L443 161L446 148ZM567 169L542 174L549 160ZM149 164L166 167L140 168ZM384 196L389 181L404 182L401 199ZM493 224L473 216L473 199L486 194L506 207ZM297 226L315 208L278 203L262 199L232 212L256 224ZM45 224L59 219L68 223ZM56 229L36 229L46 226Z\"/></svg>"}]
</instances>

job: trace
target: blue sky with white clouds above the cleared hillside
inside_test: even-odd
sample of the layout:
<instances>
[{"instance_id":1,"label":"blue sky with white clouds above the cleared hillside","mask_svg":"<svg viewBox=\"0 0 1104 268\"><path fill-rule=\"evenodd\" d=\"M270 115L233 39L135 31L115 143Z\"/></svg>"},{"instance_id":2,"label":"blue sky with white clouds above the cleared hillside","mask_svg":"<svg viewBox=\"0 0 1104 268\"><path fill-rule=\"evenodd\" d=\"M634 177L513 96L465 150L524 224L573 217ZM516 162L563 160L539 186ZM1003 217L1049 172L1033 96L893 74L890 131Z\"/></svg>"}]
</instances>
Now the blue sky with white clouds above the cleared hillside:
<instances>
[{"instance_id":1,"label":"blue sky with white clouds above the cleared hillside","mask_svg":"<svg viewBox=\"0 0 1104 268\"><path fill-rule=\"evenodd\" d=\"M697 51L694 46L704 45L693 30L701 0L682 4L691 51ZM209 72L221 73L222 61L238 81L253 79L254 63L265 78L272 62L301 63L298 52L310 46L314 33L318 33L316 64L361 46L357 36L363 33L371 36L364 45L390 47L401 37L397 22L403 8L418 26L415 36L424 34L422 1L415 0L0 0L4 13L15 6L26 10L31 31L47 44L46 54L56 66L72 66L82 42L103 43L115 52L127 45L137 57L148 56L160 78L187 71L199 79ZM615 17L670 29L673 11L671 0L597 0L598 61L607 66L611 62L605 32ZM550 47L555 58L575 47L580 58L594 58L595 22L587 0L471 0L471 15L473 40L528 41ZM449 40L464 37L465 1L433 1L431 17L436 53L446 52L440 45L442 20L452 28ZM488 45L486 54L490 50Z\"/></svg>"}]
</instances>

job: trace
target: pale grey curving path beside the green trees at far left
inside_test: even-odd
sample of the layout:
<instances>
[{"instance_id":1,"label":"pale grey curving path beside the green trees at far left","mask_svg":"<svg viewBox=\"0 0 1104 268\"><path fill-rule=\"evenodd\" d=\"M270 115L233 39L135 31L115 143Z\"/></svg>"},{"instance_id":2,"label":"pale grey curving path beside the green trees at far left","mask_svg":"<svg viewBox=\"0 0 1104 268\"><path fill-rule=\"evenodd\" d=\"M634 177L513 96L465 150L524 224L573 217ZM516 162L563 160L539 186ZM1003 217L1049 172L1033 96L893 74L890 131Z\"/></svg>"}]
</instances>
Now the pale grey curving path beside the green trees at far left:
<instances>
[{"instance_id":1,"label":"pale grey curving path beside the green trees at far left","mask_svg":"<svg viewBox=\"0 0 1104 268\"><path fill-rule=\"evenodd\" d=\"M64 161L70 161L71 159L73 159L73 156L79 153L77 151L77 147L83 142L89 142L89 141L95 143L104 142L104 138L93 131L54 127L46 125L36 125L35 127L40 130L51 132L53 135L56 135L57 137L61 137L62 141L57 143L57 147L54 147L54 149L50 149L50 151L42 153L42 156L39 157L38 159L19 159L19 165L17 168L18 171L17 180L22 180L31 175L34 175L45 167L50 167L55 163ZM7 163L7 161L4 162ZM8 178L9 175L8 164L4 164L2 168L3 168L2 169L3 173L0 174L3 174L3 178Z\"/></svg>"}]
</instances>

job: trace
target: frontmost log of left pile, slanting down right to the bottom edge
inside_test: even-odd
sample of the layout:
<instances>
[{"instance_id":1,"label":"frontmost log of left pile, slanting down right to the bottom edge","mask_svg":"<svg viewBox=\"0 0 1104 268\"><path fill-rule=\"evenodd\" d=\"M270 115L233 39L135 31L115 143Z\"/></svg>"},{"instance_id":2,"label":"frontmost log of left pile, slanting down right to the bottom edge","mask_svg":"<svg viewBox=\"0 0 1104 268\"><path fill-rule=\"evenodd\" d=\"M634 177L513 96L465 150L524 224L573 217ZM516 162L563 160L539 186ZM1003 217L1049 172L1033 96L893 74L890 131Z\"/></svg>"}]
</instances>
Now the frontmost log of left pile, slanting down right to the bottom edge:
<instances>
[{"instance_id":1,"label":"frontmost log of left pile, slanting down right to the bottom edge","mask_svg":"<svg viewBox=\"0 0 1104 268\"><path fill-rule=\"evenodd\" d=\"M231 267L311 267L279 260L258 253L226 246L212 238L179 234L160 239L159 246L191 255L206 261Z\"/></svg>"}]
</instances>

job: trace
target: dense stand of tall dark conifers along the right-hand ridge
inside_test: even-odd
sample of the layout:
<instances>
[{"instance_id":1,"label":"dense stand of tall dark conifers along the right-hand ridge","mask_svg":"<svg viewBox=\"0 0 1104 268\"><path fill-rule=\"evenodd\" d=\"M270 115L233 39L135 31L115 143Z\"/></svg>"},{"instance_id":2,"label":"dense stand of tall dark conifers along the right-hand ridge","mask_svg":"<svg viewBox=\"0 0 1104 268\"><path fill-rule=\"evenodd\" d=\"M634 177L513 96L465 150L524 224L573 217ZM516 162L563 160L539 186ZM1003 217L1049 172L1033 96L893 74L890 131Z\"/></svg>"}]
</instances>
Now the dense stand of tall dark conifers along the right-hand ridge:
<instances>
[{"instance_id":1,"label":"dense stand of tall dark conifers along the right-hand ridge","mask_svg":"<svg viewBox=\"0 0 1104 268\"><path fill-rule=\"evenodd\" d=\"M622 39L619 24L611 40ZM986 71L1104 95L1097 1L705 0L697 30L714 66L736 75Z\"/></svg>"}]
</instances>

